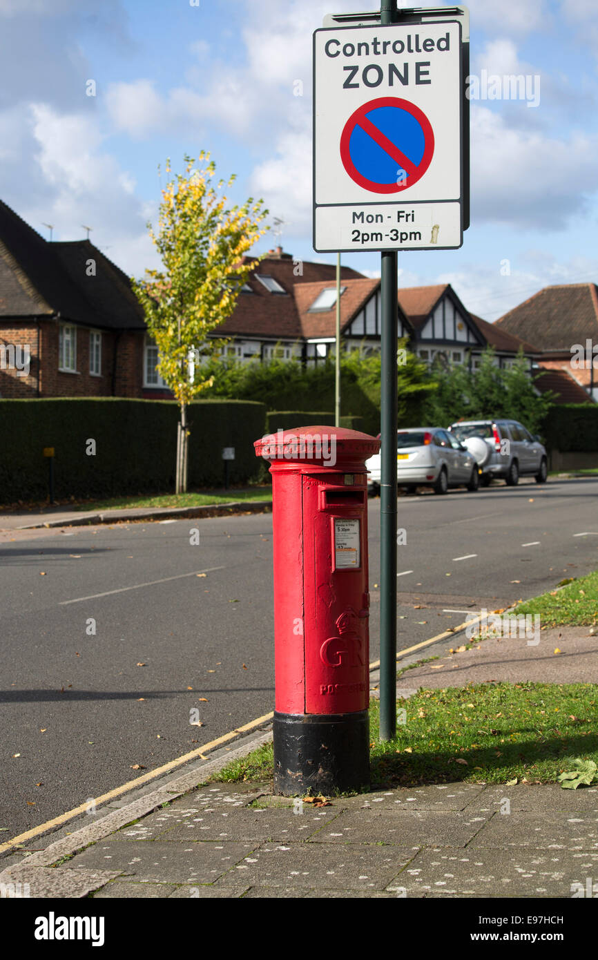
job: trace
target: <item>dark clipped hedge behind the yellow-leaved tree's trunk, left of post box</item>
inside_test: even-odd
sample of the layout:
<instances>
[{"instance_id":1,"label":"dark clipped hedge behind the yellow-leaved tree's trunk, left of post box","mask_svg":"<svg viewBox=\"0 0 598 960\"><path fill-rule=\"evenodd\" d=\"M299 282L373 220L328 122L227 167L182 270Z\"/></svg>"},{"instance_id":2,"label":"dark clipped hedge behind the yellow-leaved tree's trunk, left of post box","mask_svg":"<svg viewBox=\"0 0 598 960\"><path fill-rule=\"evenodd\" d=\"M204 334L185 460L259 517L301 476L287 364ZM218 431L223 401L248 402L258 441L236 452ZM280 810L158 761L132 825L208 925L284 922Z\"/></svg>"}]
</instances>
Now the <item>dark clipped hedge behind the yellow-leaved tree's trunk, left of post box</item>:
<instances>
[{"instance_id":1,"label":"dark clipped hedge behind the yellow-leaved tree's trunk, left of post box","mask_svg":"<svg viewBox=\"0 0 598 960\"><path fill-rule=\"evenodd\" d=\"M55 496L107 496L174 489L179 408L169 400L0 400L0 502L43 499L45 446L54 446ZM200 400L189 408L189 487L221 487L222 448L234 446L230 482L261 475L253 441L266 407L249 400ZM96 442L88 456L86 442Z\"/></svg>"}]
</instances>

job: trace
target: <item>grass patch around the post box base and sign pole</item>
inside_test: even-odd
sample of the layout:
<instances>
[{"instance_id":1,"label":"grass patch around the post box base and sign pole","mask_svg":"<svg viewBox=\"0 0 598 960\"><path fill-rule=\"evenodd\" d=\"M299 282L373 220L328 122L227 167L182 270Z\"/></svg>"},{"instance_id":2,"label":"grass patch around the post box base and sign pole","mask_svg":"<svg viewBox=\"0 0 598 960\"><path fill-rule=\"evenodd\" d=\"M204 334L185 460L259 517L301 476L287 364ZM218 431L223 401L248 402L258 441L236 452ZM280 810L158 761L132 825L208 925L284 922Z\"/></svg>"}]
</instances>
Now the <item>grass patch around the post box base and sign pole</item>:
<instances>
[{"instance_id":1,"label":"grass patch around the post box base and sign pole","mask_svg":"<svg viewBox=\"0 0 598 960\"><path fill-rule=\"evenodd\" d=\"M395 739L379 743L378 702L372 701L372 786L553 783L576 756L598 762L597 703L598 684L421 689L398 701ZM272 744L232 761L217 775L229 782L272 778Z\"/></svg>"}]
</instances>

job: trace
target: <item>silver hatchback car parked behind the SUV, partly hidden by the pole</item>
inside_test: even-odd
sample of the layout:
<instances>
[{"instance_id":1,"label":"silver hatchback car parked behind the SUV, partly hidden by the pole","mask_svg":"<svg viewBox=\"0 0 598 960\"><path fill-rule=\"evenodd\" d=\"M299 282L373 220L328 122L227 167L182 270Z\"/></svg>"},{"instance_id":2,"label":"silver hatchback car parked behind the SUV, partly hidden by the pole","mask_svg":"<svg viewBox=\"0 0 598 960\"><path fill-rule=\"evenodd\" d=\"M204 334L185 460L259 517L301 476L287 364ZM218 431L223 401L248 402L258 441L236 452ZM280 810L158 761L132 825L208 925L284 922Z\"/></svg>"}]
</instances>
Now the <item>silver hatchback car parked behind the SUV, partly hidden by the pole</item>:
<instances>
[{"instance_id":1,"label":"silver hatchback car parked behind the SUV, partly hidden by the pole","mask_svg":"<svg viewBox=\"0 0 598 960\"><path fill-rule=\"evenodd\" d=\"M366 462L368 485L380 487L380 454ZM432 487L445 493L449 487L476 491L479 469L474 456L454 435L441 427L410 427L396 434L396 477L399 487L414 491Z\"/></svg>"}]
</instances>

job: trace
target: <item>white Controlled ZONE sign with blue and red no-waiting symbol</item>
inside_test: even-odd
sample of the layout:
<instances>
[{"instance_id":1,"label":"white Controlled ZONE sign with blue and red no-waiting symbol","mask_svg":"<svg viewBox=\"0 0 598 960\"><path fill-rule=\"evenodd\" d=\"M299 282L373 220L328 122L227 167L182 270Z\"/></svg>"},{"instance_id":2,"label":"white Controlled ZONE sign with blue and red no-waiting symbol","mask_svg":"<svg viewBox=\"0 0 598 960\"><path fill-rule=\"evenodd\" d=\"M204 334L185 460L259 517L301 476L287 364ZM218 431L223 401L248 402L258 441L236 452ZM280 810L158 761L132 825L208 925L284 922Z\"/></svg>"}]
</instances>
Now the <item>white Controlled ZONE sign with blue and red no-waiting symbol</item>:
<instances>
[{"instance_id":1,"label":"white Controlled ZONE sign with blue and red no-waiting symbol","mask_svg":"<svg viewBox=\"0 0 598 960\"><path fill-rule=\"evenodd\" d=\"M314 34L314 249L463 243L461 24Z\"/></svg>"}]
</instances>

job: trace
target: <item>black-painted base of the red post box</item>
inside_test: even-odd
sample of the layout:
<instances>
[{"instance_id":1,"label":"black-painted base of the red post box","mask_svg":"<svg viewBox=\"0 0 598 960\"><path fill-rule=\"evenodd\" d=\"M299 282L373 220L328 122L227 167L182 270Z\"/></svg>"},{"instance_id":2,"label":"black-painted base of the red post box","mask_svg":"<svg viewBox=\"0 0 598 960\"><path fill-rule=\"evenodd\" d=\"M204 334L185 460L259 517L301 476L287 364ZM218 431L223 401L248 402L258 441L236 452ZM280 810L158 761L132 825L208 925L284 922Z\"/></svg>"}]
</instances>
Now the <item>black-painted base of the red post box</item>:
<instances>
[{"instance_id":1,"label":"black-painted base of the red post box","mask_svg":"<svg viewBox=\"0 0 598 960\"><path fill-rule=\"evenodd\" d=\"M370 789L370 713L278 713L275 794L333 796Z\"/></svg>"}]
</instances>

